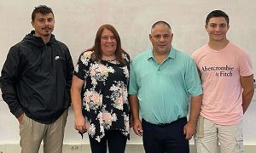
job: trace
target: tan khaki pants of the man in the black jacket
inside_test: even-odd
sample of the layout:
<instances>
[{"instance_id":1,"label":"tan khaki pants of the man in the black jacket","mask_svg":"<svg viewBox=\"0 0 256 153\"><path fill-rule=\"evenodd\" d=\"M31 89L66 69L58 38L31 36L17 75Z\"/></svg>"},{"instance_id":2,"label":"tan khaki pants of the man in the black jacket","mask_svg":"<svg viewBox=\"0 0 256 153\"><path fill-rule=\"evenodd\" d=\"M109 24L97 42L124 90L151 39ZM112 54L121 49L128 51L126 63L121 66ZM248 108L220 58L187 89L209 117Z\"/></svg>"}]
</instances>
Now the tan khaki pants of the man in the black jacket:
<instances>
[{"instance_id":1,"label":"tan khaki pants of the man in the black jacket","mask_svg":"<svg viewBox=\"0 0 256 153\"><path fill-rule=\"evenodd\" d=\"M21 153L38 153L44 139L44 153L61 153L67 113L51 124L35 122L24 114L24 122L20 123Z\"/></svg>"}]
</instances>

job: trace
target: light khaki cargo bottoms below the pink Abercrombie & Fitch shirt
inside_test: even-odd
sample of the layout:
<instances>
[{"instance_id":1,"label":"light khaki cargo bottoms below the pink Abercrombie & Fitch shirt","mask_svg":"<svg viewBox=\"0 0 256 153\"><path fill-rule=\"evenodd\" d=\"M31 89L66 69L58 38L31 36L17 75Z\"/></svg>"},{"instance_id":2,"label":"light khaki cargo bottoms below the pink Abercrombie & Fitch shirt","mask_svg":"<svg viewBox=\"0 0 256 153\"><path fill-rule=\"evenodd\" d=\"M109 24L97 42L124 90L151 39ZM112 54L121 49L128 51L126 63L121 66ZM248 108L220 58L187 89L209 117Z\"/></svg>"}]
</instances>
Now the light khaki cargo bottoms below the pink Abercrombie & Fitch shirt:
<instances>
[{"instance_id":1,"label":"light khaki cargo bottoms below the pink Abercrombie & Fitch shirt","mask_svg":"<svg viewBox=\"0 0 256 153\"><path fill-rule=\"evenodd\" d=\"M197 153L243 152L242 123L223 126L200 116L194 139Z\"/></svg>"}]
</instances>

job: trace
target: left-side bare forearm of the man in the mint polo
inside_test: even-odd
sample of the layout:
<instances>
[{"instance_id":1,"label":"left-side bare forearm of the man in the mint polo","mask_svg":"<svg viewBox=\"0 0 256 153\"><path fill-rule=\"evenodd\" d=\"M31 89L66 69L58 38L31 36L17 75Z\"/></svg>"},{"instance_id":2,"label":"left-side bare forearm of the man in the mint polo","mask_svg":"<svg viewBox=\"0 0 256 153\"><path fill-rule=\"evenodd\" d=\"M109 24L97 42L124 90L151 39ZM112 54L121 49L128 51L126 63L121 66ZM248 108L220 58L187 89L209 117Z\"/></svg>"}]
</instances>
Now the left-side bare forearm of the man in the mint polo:
<instances>
[{"instance_id":1,"label":"left-side bare forearm of the man in the mint polo","mask_svg":"<svg viewBox=\"0 0 256 153\"><path fill-rule=\"evenodd\" d=\"M133 120L139 120L139 104L137 95L129 95L129 102L131 107L131 114L133 117Z\"/></svg>"}]
</instances>

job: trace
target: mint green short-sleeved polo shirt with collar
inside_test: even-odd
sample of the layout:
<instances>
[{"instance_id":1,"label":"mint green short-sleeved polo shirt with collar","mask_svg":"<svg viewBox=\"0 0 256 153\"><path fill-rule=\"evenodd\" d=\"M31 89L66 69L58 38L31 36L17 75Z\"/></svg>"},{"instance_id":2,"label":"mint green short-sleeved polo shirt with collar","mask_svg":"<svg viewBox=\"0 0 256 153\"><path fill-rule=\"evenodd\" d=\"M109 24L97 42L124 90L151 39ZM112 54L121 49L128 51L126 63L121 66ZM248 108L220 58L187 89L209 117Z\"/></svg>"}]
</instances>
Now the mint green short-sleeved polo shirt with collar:
<instances>
[{"instance_id":1,"label":"mint green short-sleeved polo shirt with collar","mask_svg":"<svg viewBox=\"0 0 256 153\"><path fill-rule=\"evenodd\" d=\"M175 48L162 64L152 49L138 54L131 64L129 94L137 95L147 122L169 123L187 116L189 96L202 94L194 60Z\"/></svg>"}]
</instances>

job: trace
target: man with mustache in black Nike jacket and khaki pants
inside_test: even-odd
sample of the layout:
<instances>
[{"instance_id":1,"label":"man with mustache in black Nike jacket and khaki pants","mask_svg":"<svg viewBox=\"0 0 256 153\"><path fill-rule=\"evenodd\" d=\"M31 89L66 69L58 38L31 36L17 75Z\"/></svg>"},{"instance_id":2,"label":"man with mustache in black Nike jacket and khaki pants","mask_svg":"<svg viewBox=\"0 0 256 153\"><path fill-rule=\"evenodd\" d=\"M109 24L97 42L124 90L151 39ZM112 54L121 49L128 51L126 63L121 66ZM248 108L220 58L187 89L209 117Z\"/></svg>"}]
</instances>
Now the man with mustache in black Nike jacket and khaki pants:
<instances>
[{"instance_id":1,"label":"man with mustache in black Nike jacket and khaki pants","mask_svg":"<svg viewBox=\"0 0 256 153\"><path fill-rule=\"evenodd\" d=\"M3 100L20 122L22 153L61 153L73 61L67 46L52 33L51 8L40 5L32 12L34 31L9 50L0 78Z\"/></svg>"}]
</instances>

